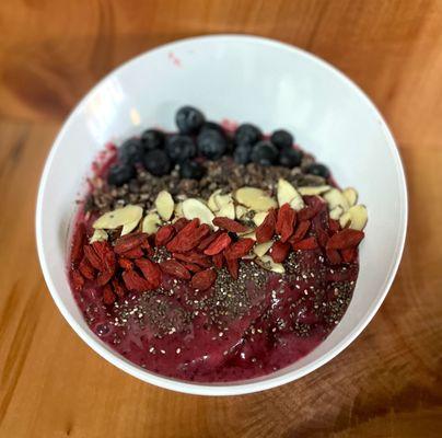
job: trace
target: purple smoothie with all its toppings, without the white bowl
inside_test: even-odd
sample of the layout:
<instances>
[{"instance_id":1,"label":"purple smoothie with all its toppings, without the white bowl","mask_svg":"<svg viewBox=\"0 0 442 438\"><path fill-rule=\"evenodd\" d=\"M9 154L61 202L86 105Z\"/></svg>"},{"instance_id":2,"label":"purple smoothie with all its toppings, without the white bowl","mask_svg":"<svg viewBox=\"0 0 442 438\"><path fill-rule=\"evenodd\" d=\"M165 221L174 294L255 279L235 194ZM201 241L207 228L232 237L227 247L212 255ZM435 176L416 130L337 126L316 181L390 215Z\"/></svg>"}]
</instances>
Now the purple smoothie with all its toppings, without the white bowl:
<instances>
[{"instance_id":1,"label":"purple smoothie with all its toppings, without the white bowl","mask_svg":"<svg viewBox=\"0 0 442 438\"><path fill-rule=\"evenodd\" d=\"M312 351L344 316L367 208L287 130L234 130L185 106L178 134L107 147L68 273L90 328L131 362L246 380Z\"/></svg>"}]
</instances>

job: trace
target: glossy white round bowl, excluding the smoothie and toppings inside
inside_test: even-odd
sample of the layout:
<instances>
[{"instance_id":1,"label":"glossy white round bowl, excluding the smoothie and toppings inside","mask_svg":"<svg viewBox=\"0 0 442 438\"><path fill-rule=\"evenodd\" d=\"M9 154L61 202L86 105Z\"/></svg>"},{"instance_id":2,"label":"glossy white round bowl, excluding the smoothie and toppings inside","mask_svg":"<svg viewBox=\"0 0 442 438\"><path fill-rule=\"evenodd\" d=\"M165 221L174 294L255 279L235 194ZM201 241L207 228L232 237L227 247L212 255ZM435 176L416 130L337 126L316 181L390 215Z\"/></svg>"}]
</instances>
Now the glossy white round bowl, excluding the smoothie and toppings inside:
<instances>
[{"instance_id":1,"label":"glossy white round bowl, excluding the smoothie and toppings inside","mask_svg":"<svg viewBox=\"0 0 442 438\"><path fill-rule=\"evenodd\" d=\"M360 275L341 322L303 359L272 374L224 384L164 378L119 356L89 328L66 275L74 200L91 162L109 139L143 127L173 129L177 107L208 118L288 128L356 186L369 208ZM140 123L141 122L141 123ZM299 379L346 348L373 318L396 274L407 226L407 192L395 141L373 103L334 67L298 48L254 36L217 35L167 44L125 64L80 102L58 135L39 186L36 233L46 283L66 320L96 353L146 382L206 395L243 394Z\"/></svg>"}]
</instances>

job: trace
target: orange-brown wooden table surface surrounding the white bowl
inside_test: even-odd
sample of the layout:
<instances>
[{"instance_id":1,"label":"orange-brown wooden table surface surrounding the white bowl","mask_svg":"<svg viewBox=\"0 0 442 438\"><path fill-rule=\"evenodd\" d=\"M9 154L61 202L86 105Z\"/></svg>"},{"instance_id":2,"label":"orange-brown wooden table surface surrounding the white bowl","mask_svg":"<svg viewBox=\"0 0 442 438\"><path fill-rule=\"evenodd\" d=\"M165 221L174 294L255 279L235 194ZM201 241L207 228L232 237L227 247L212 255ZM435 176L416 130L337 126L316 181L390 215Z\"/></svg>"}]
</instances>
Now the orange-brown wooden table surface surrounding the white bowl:
<instances>
[{"instance_id":1,"label":"orange-brown wooden table surface surrounding the white bowl","mask_svg":"<svg viewBox=\"0 0 442 438\"><path fill-rule=\"evenodd\" d=\"M54 304L34 239L38 177L63 117L158 44L253 33L333 62L379 105L407 171L399 273L361 336L264 393L177 394L101 359ZM1 437L435 437L442 434L442 1L15 1L0 4Z\"/></svg>"}]
</instances>

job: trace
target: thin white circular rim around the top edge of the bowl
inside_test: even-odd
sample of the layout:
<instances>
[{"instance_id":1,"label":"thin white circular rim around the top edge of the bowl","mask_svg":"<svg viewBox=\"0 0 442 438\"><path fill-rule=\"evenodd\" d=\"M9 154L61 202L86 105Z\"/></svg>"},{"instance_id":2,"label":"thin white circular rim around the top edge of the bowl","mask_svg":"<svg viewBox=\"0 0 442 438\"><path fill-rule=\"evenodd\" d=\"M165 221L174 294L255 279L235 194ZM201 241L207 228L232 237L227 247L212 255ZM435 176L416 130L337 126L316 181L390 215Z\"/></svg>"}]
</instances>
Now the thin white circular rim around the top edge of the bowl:
<instances>
[{"instance_id":1,"label":"thin white circular rim around the top edge of the bowl","mask_svg":"<svg viewBox=\"0 0 442 438\"><path fill-rule=\"evenodd\" d=\"M241 41L241 42L249 42L253 44L260 44L265 45L268 47L274 47L278 49L283 49L287 51L290 51L292 54L296 54L298 56L304 57L309 59L310 61L313 61L319 67L327 69L332 74L340 79L348 85L354 93L361 97L364 103L374 112L374 114L379 117L379 123L381 125L382 130L384 131L384 135L386 137L388 148L391 149L392 157L395 160L395 168L397 171L397 177L399 181L399 189L402 191L400 193L400 201L403 205L403 211L402 211L402 222L399 223L399 231L400 234L398 235L398 239L396 241L396 258L394 263L392 263L389 267L389 273L387 275L387 278L384 283L384 290L382 292L382 296L377 299L377 302L375 306L370 310L369 313L365 314L363 319L360 320L358 325L349 332L344 339L341 339L336 346L334 346L328 353L324 354L322 357L317 358L314 360L312 364L304 366L303 368L299 370L293 370L289 371L287 373L283 373L281 376L274 376L268 374L268 378L264 377L264 380L259 381L251 381L251 382L242 382L242 383L235 383L235 382L226 382L226 383L189 383L185 382L182 380L176 380L176 379L171 379L166 377L162 377L159 374L155 374L153 372L150 372L149 370L143 370L139 367L137 367L133 364L130 364L123 358L118 356L117 353L112 353L111 350L106 349L104 345L101 344L100 339L96 338L96 336L86 330L84 330L73 318L73 315L69 312L67 307L63 304L61 301L61 298L59 297L57 289L55 287L55 284L51 279L47 260L45 257L45 251L44 251L44 242L43 242L43 235L40 233L42 229L42 219L43 219L43 200L44 200L44 195L46 192L46 186L47 186L47 178L49 175L49 171L51 169L51 164L54 161L54 157L58 149L61 147L61 139L65 136L65 132L68 130L70 127L70 124L72 119L77 116L78 113L80 113L84 105L88 103L90 96L97 90L104 82L106 82L115 73L126 69L129 64L136 62L140 58L143 58L152 53L155 51L162 51L162 50L167 50L172 49L176 46L179 45L186 45L186 44L191 44L194 42L233 42L233 41ZM396 276L403 252L404 252L404 246L405 246L405 240L406 240L406 234L407 234L407 223L408 223L408 193L407 193L407 183L406 183L406 177L405 177L405 172L404 172L404 166L402 163L400 154L397 149L396 142L394 140L394 137L384 120L383 116L381 115L380 111L377 107L374 105L374 103L370 100L370 97L350 79L348 78L345 73L342 73L340 70L338 70L336 67L332 66L327 61L323 60L322 58L317 57L316 55L313 55L302 48L295 47L293 45L282 43L276 39L271 38L266 38L261 36L255 36L255 35L245 35L245 34L213 34L213 35L202 35L202 36L193 36L188 38L183 38L183 39L176 39L174 42L166 43L161 46L156 46L152 49L149 49L147 51L143 51L142 54L130 58L129 60L125 61L117 68L113 69L109 73L107 73L103 79L101 79L82 99L81 101L74 106L74 108L71 111L69 116L66 118L66 120L62 124L61 129L59 130L56 139L53 142L53 146L50 148L50 151L47 155L44 170L42 173L42 177L39 181L38 185L38 194L37 194L37 203L36 203L36 210L35 210L35 232L36 232L36 243L37 243L37 253L38 253L38 258L39 263L42 266L42 270L44 274L44 278L46 281L46 285L49 289L49 292L57 304L59 311L61 314L65 316L69 325L73 328L73 331L100 356L102 356L104 359L116 366L117 368L121 369L123 371L129 373L132 377L136 377L144 382L154 384L156 387L161 387L164 389L173 390L173 391L178 391L182 393L187 393L187 394L195 394L195 395L240 395L240 394L247 394L247 393L254 393L254 392L259 392L264 390L268 390L271 388L276 388L279 385L282 385L284 383L298 380L307 373L316 370L317 368L322 367L333 358L335 358L339 353L341 353L345 348L347 348L359 335L360 333L367 327L367 325L371 322L375 313L377 312L379 308L383 303L392 284L393 280Z\"/></svg>"}]
</instances>

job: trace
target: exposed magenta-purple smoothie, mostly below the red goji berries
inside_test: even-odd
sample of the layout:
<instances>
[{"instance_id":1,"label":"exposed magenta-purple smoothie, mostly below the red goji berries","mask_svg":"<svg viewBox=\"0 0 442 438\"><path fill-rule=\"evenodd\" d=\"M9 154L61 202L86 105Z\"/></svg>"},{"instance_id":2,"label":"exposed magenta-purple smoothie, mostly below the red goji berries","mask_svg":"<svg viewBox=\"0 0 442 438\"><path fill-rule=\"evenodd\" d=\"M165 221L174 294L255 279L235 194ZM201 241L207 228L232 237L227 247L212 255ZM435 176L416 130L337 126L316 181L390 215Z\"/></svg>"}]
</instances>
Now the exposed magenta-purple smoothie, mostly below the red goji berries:
<instances>
[{"instance_id":1,"label":"exposed magenta-purple smoothie, mostly below the red goji berries","mask_svg":"<svg viewBox=\"0 0 442 438\"><path fill-rule=\"evenodd\" d=\"M94 174L106 173L115 161L115 150L111 145L98 157L92 166ZM85 221L81 214L75 222L80 221ZM90 234L93 220L85 222ZM266 286L258 290L251 283L248 307L222 331L210 325L202 312L184 322L181 315L195 312L189 302L200 297L186 281L167 276L161 293L130 292L117 307L103 304L102 289L90 283L83 290L72 287L72 291L90 328L131 362L185 381L247 380L288 367L311 353L333 331L351 300L358 261L332 266L321 250L296 251L293 257L295 273L266 272ZM155 325L147 321L142 310L155 306L164 309L165 319L176 322L175 332L159 336Z\"/></svg>"}]
</instances>

